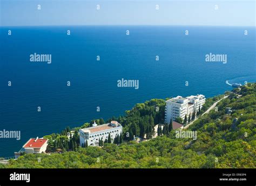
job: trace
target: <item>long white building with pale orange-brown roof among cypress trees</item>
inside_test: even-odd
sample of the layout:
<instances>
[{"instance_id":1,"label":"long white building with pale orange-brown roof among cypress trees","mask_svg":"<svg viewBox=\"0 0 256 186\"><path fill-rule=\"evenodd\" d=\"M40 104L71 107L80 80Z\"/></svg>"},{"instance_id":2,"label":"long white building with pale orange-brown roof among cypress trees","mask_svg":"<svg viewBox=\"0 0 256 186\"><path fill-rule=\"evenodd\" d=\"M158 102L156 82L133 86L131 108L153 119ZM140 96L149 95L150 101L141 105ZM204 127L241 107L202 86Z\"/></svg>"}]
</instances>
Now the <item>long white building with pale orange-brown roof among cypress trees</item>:
<instances>
[{"instance_id":1,"label":"long white building with pale orange-brown roof among cypress trees","mask_svg":"<svg viewBox=\"0 0 256 186\"><path fill-rule=\"evenodd\" d=\"M122 133L123 127L117 121L111 121L111 123L98 125L94 123L92 127L82 128L79 130L80 135L80 146L87 140L88 146L99 146L99 140L102 139L105 141L109 137L111 137L111 142L113 139L120 133Z\"/></svg>"}]
</instances>

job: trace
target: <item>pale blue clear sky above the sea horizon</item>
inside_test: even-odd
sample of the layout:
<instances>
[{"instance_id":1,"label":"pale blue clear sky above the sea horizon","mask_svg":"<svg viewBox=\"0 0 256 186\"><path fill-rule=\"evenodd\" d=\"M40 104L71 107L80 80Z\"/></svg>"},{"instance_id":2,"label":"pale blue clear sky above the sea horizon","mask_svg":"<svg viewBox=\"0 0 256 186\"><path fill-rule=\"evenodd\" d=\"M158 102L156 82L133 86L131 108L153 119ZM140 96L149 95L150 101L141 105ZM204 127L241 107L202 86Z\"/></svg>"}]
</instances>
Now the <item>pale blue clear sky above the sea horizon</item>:
<instances>
[{"instance_id":1,"label":"pale blue clear sky above the sea horizon","mask_svg":"<svg viewBox=\"0 0 256 186\"><path fill-rule=\"evenodd\" d=\"M255 1L0 0L1 26L255 26ZM37 10L37 5L41 10ZM97 4L100 10L96 10ZM156 10L156 4L159 10ZM215 10L218 5L218 10Z\"/></svg>"}]
</instances>

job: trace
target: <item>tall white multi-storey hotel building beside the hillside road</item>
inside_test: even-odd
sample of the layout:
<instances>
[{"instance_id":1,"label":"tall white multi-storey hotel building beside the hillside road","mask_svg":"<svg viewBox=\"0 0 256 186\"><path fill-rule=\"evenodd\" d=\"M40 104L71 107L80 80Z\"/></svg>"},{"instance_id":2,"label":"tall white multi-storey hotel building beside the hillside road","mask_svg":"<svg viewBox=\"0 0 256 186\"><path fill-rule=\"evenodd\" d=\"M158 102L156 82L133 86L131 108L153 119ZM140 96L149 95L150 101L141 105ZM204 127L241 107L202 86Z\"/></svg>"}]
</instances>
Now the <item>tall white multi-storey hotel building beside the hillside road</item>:
<instances>
[{"instance_id":1,"label":"tall white multi-storey hotel building beside the hillside road","mask_svg":"<svg viewBox=\"0 0 256 186\"><path fill-rule=\"evenodd\" d=\"M175 120L177 117L182 119L187 117L194 111L199 110L199 106L205 103L204 95L188 96L186 98L177 96L167 100L165 106L165 123L170 123L170 120Z\"/></svg>"}]
</instances>

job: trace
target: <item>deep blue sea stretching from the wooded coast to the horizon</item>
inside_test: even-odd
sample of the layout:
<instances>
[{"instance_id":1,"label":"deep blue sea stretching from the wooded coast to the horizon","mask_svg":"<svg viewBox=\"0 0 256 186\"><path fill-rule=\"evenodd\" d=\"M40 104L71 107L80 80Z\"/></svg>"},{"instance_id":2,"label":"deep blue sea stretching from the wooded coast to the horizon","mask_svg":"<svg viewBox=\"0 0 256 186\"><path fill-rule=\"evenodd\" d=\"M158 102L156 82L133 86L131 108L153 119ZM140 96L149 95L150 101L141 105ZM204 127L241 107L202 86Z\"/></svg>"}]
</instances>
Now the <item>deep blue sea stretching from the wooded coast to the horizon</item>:
<instances>
[{"instance_id":1,"label":"deep blue sea stretching from the wooded coast to the horizon","mask_svg":"<svg viewBox=\"0 0 256 186\"><path fill-rule=\"evenodd\" d=\"M212 97L232 89L226 80L246 81L255 75L254 27L57 26L0 31L0 130L22 134L19 141L0 139L0 156L12 156L29 138L124 115L151 98ZM52 54L52 63L30 62L33 53ZM227 63L205 62L209 53L227 54ZM118 88L122 78L139 80L139 89Z\"/></svg>"}]
</instances>

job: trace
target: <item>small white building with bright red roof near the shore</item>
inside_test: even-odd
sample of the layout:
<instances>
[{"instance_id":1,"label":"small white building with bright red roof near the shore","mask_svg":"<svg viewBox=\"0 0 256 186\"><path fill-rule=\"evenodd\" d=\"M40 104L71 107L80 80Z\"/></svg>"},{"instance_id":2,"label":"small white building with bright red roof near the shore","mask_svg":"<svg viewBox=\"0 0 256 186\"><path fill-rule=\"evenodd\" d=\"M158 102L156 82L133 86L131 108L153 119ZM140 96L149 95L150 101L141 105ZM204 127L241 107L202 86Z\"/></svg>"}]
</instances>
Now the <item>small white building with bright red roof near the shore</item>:
<instances>
[{"instance_id":1,"label":"small white building with bright red roof near the shore","mask_svg":"<svg viewBox=\"0 0 256 186\"><path fill-rule=\"evenodd\" d=\"M37 153L45 153L46 148L48 146L48 139L43 138L31 138L29 139L25 145L23 145L22 149L19 152L15 152L15 158L21 156L21 153L26 154L37 154Z\"/></svg>"}]
</instances>

